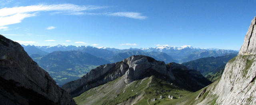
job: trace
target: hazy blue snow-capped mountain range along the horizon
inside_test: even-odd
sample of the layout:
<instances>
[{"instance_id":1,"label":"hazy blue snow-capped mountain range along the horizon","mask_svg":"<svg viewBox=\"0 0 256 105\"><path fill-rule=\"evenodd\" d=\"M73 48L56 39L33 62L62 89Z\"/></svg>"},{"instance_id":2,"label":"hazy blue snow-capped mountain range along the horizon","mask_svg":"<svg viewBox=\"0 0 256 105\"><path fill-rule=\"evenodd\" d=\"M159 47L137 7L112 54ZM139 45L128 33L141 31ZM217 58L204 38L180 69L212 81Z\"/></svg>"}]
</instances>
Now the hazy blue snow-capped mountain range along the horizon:
<instances>
[{"instance_id":1,"label":"hazy blue snow-capped mountain range along the horizon","mask_svg":"<svg viewBox=\"0 0 256 105\"><path fill-rule=\"evenodd\" d=\"M115 48L95 48L92 46L24 46L22 45L29 55L39 54L46 55L54 51L70 51L76 50L81 52L90 53L96 57L106 59L112 63L120 61L131 55L148 55L154 57L156 60L165 61L165 63L176 62L183 63L192 61L202 57L217 57L223 56L229 53L238 54L236 50L220 50L220 49L200 49L192 46L158 46L156 48L130 48L125 50Z\"/></svg>"}]
</instances>

